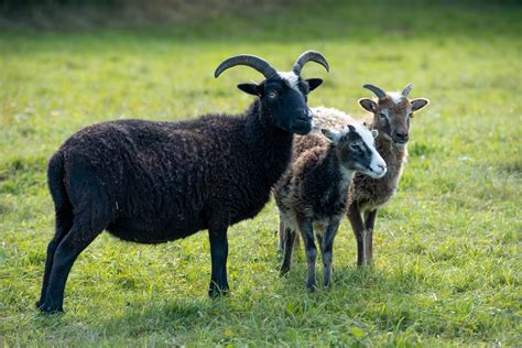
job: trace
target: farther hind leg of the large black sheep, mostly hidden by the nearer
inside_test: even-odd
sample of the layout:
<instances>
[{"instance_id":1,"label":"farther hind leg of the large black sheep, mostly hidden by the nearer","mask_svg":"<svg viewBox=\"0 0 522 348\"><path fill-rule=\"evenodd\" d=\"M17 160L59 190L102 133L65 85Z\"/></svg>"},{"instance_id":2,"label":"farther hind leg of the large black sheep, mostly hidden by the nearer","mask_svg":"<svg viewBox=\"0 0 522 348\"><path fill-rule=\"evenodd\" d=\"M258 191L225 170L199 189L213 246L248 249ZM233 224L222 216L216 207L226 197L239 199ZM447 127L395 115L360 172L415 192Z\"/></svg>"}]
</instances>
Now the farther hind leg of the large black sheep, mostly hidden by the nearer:
<instances>
[{"instance_id":1,"label":"farther hind leg of the large black sheep, mostly hidden by the nearer","mask_svg":"<svg viewBox=\"0 0 522 348\"><path fill-rule=\"evenodd\" d=\"M36 302L36 308L40 308L45 302L45 294L47 293L48 278L51 275L51 270L53 267L54 254L59 242L64 239L65 235L67 235L67 232L73 227L73 219L74 216L70 209L64 208L62 210L56 210L55 233L51 242L47 244L47 257L45 259L42 292L40 294L40 300Z\"/></svg>"}]
</instances>

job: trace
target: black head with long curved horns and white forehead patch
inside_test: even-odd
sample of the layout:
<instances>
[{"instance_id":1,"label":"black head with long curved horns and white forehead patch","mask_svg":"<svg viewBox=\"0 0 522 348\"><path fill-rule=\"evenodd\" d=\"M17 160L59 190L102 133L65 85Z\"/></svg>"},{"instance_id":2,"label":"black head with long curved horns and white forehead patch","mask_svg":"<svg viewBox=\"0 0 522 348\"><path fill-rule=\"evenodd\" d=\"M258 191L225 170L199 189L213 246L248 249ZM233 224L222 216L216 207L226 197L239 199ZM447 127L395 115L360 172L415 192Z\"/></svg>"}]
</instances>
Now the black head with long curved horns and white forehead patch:
<instances>
[{"instance_id":1,"label":"black head with long curved horns and white forehead patch","mask_svg":"<svg viewBox=\"0 0 522 348\"><path fill-rule=\"evenodd\" d=\"M259 97L265 122L272 122L290 133L306 134L313 127L307 95L323 83L320 78L301 78L303 66L311 61L329 69L320 53L307 51L297 58L291 72L278 72L264 59L253 55L237 55L222 62L214 76L218 77L224 70L237 65L250 66L260 72L265 77L264 80L259 84L240 84L238 88Z\"/></svg>"}]
</instances>

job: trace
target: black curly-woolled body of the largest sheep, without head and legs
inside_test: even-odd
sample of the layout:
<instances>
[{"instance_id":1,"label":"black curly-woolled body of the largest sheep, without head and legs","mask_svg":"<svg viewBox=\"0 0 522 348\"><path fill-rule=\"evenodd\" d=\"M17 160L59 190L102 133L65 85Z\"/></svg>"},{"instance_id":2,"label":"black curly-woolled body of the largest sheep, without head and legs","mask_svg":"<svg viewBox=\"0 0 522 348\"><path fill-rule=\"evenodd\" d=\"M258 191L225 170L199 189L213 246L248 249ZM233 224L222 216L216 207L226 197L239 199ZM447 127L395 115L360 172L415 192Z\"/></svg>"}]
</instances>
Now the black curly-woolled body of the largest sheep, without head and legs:
<instances>
[{"instance_id":1,"label":"black curly-woolled body of the largest sheep, without head and legs","mask_svg":"<svg viewBox=\"0 0 522 348\"><path fill-rule=\"evenodd\" d=\"M87 127L50 163L59 175L50 175L53 198L93 229L145 243L251 218L286 168L293 140L262 124L259 112L255 101L239 117Z\"/></svg>"}]
</instances>

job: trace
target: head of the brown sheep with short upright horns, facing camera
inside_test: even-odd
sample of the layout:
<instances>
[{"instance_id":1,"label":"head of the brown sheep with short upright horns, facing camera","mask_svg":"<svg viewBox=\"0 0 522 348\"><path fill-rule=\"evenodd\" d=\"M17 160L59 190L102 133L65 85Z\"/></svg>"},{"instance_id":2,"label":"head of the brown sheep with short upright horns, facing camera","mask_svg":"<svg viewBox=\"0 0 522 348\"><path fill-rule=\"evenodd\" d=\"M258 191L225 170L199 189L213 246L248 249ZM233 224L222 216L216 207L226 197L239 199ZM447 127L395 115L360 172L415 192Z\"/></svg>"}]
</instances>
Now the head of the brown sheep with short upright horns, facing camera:
<instances>
[{"instance_id":1,"label":"head of the brown sheep with short upright horns, facing camera","mask_svg":"<svg viewBox=\"0 0 522 348\"><path fill-rule=\"evenodd\" d=\"M412 84L406 85L401 93L385 93L373 85L365 85L373 91L377 100L362 98L359 105L367 111L373 113L373 129L392 141L396 146L404 146L410 139L410 119L413 112L421 110L429 104L426 98L409 99L407 95L413 88Z\"/></svg>"}]
</instances>

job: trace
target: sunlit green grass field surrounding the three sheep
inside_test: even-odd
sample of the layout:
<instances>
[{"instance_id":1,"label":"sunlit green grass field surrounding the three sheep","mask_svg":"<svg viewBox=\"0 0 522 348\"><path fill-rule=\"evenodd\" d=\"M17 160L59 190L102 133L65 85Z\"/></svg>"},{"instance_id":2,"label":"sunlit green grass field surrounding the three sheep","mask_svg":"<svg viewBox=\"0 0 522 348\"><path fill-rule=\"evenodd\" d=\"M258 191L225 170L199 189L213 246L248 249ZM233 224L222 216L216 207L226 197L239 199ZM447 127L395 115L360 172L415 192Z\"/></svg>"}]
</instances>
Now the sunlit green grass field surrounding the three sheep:
<instances>
[{"instance_id":1,"label":"sunlit green grass field surrounding the three sheep","mask_svg":"<svg viewBox=\"0 0 522 348\"><path fill-rule=\"evenodd\" d=\"M317 1L175 25L0 32L0 346L518 346L521 341L522 7ZM309 105L362 115L373 83L429 107L412 123L400 191L381 210L376 264L357 269L342 222L334 287L307 293L303 252L280 279L273 203L229 232L226 298L210 301L206 232L160 246L101 235L77 260L65 315L34 308L54 210L47 157L87 124L243 110L235 85L325 54Z\"/></svg>"}]
</instances>

